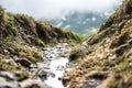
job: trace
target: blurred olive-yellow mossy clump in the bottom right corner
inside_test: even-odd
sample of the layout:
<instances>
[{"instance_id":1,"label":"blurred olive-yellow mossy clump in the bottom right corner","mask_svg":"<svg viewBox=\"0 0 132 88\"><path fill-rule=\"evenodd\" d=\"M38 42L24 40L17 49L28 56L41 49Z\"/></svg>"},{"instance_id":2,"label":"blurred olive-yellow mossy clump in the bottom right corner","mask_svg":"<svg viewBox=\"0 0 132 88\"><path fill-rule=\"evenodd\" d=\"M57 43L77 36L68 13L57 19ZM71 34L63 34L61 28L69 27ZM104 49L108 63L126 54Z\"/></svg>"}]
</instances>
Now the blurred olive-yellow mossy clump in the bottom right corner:
<instances>
[{"instance_id":1,"label":"blurred olive-yellow mossy clump in the bottom right corner","mask_svg":"<svg viewBox=\"0 0 132 88\"><path fill-rule=\"evenodd\" d=\"M132 87L132 66L123 61L114 68L107 88L131 88Z\"/></svg>"}]
</instances>

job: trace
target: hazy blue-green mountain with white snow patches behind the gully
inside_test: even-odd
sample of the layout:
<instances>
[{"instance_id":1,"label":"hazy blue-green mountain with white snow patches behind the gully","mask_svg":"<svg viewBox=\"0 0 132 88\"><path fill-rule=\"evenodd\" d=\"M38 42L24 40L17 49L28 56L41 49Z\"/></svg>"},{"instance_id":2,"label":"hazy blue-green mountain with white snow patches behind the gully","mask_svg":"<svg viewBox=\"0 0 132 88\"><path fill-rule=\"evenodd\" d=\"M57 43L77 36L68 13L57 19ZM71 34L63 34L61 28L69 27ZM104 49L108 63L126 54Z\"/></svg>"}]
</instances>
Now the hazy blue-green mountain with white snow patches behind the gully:
<instances>
[{"instance_id":1,"label":"hazy blue-green mountain with white snow patches behind the gully","mask_svg":"<svg viewBox=\"0 0 132 88\"><path fill-rule=\"evenodd\" d=\"M70 29L80 34L88 34L97 31L97 29L106 21L110 13L92 13L92 12L70 12L61 19L50 20L55 26ZM45 20L45 19L42 19Z\"/></svg>"}]
</instances>

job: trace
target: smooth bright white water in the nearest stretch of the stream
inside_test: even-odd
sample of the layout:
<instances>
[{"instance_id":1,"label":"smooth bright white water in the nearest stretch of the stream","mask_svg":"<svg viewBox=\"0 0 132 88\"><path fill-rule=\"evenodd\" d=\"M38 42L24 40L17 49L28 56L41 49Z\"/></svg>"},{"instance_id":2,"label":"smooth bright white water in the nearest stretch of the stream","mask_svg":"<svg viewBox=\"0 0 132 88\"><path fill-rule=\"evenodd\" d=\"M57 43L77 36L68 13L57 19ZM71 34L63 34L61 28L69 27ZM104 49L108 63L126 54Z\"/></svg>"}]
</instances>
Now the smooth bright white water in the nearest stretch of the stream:
<instances>
[{"instance_id":1,"label":"smooth bright white water in the nearest stretch of the stream","mask_svg":"<svg viewBox=\"0 0 132 88\"><path fill-rule=\"evenodd\" d=\"M66 63L68 63L67 58L58 58L58 59L54 59L51 62L51 65L50 65L51 69L50 70L55 74L55 78L48 77L47 80L45 80L45 82L48 86L51 86L53 88L64 88L62 81L58 80L58 78L64 75L65 70L57 70L56 67L57 66L65 66Z\"/></svg>"}]
</instances>

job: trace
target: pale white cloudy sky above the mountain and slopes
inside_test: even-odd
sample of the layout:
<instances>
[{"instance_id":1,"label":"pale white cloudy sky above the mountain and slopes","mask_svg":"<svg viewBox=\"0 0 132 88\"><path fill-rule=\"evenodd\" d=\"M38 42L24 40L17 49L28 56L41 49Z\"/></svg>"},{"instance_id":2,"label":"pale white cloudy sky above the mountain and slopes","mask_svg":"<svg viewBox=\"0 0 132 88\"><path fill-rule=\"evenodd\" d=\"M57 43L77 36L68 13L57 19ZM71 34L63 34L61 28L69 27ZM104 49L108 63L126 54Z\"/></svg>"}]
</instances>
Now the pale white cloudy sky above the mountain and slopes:
<instances>
[{"instance_id":1,"label":"pale white cloudy sky above the mountain and slopes","mask_svg":"<svg viewBox=\"0 0 132 88\"><path fill-rule=\"evenodd\" d=\"M7 11L24 13L36 19L59 19L73 11L111 12L122 0L0 0Z\"/></svg>"}]
</instances>

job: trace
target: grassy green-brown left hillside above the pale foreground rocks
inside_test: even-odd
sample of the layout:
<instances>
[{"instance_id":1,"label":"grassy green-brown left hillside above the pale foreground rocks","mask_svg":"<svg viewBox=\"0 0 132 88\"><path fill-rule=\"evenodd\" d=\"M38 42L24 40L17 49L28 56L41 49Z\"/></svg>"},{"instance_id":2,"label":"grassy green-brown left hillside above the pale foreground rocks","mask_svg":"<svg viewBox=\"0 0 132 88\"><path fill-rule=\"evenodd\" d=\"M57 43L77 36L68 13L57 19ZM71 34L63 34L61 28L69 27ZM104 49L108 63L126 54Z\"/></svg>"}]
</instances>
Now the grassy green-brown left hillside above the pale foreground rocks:
<instances>
[{"instance_id":1,"label":"grassy green-brown left hillside above the pale foreground rocks","mask_svg":"<svg viewBox=\"0 0 132 88\"><path fill-rule=\"evenodd\" d=\"M82 41L84 36L72 31L61 30L48 22L36 21L25 14L4 12L0 7L0 54L3 55L2 58L16 57L15 62L19 65L29 67L31 64L44 59L38 47L44 47L46 44L55 45L59 42L75 45ZM4 69L11 68L7 63L0 65ZM12 67L21 69L21 67Z\"/></svg>"}]
</instances>

